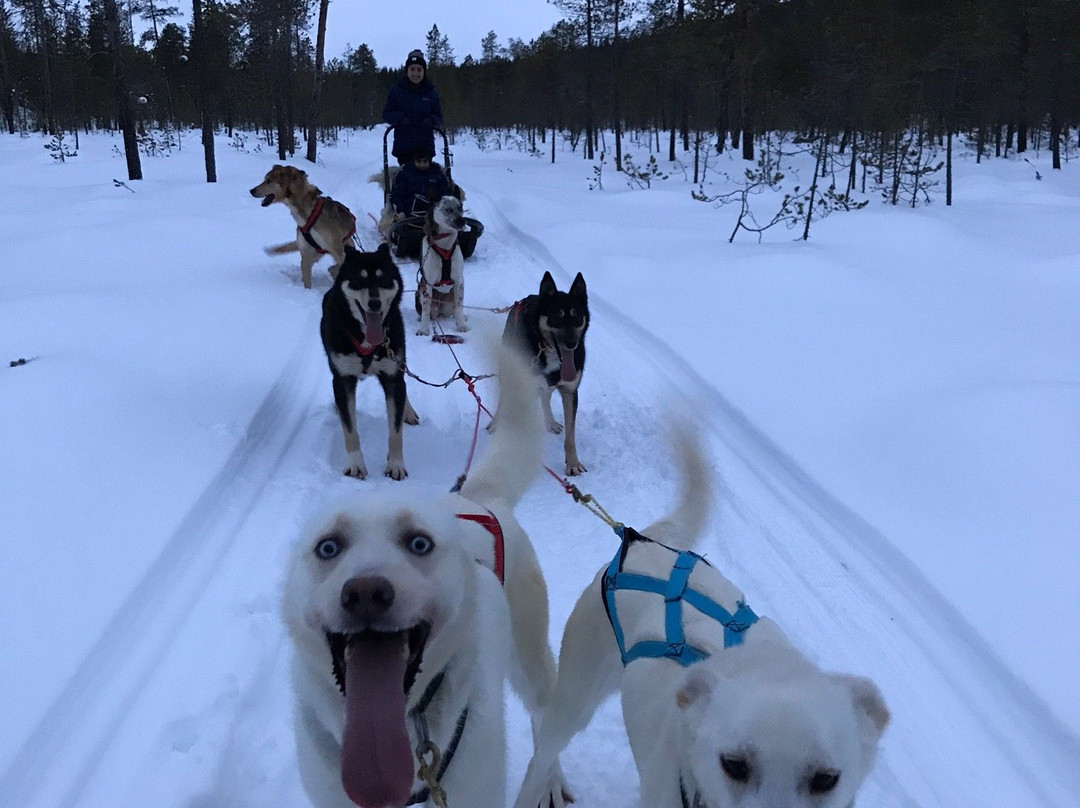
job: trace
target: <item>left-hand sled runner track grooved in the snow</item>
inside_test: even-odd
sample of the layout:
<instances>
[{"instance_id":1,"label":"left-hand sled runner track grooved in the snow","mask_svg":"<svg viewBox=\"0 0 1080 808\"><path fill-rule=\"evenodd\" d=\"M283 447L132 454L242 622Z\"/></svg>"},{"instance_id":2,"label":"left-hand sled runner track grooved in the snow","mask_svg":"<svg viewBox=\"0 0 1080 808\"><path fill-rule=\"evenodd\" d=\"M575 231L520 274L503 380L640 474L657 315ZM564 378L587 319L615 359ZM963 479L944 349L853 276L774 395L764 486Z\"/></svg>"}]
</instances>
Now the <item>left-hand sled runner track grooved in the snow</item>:
<instances>
[{"instance_id":1,"label":"left-hand sled runner track grooved in the snow","mask_svg":"<svg viewBox=\"0 0 1080 808\"><path fill-rule=\"evenodd\" d=\"M280 461L310 432L323 408L322 360L314 336L297 346L252 419L244 437L177 527L163 551L118 608L70 683L31 732L0 792L10 805L95 805L84 799L132 705L160 669L176 635L204 596ZM316 444L318 445L318 444ZM57 767L56 759L68 764ZM71 763L71 760L77 763Z\"/></svg>"}]
</instances>

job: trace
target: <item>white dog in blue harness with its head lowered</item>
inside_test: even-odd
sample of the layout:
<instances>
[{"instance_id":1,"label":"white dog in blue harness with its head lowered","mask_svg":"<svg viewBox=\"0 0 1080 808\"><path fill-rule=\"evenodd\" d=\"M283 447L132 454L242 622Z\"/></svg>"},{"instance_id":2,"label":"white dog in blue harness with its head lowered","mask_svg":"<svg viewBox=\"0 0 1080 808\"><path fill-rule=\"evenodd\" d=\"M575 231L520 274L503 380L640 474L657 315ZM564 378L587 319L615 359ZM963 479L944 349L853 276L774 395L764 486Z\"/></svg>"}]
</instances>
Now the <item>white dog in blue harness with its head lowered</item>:
<instances>
[{"instance_id":1,"label":"white dog in blue harness with its head lowered","mask_svg":"<svg viewBox=\"0 0 1080 808\"><path fill-rule=\"evenodd\" d=\"M558 684L515 808L549 805L549 767L621 689L648 808L850 808L889 721L866 678L826 673L692 547L711 470L680 441L676 510L625 529L567 621ZM663 542L663 543L661 543Z\"/></svg>"}]
</instances>

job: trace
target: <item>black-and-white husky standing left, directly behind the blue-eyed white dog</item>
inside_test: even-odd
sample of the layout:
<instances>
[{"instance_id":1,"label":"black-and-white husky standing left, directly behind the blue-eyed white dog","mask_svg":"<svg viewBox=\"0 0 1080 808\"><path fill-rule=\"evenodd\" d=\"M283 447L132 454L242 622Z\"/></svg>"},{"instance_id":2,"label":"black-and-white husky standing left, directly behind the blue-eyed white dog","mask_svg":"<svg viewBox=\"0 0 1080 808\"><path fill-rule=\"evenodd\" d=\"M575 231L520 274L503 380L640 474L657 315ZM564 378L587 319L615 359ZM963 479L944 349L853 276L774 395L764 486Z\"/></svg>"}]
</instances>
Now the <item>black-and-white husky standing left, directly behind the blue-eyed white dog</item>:
<instances>
[{"instance_id":1,"label":"black-and-white husky standing left, directly behind the blue-eyed white dog","mask_svg":"<svg viewBox=\"0 0 1080 808\"><path fill-rule=\"evenodd\" d=\"M356 381L376 376L387 396L390 440L383 473L408 476L402 454L402 423L419 423L405 393L405 323L402 320L402 277L390 247L374 253L346 247L334 285L323 297L320 333L334 376L334 403L345 433L349 476L363 480L367 467L356 430Z\"/></svg>"}]
</instances>

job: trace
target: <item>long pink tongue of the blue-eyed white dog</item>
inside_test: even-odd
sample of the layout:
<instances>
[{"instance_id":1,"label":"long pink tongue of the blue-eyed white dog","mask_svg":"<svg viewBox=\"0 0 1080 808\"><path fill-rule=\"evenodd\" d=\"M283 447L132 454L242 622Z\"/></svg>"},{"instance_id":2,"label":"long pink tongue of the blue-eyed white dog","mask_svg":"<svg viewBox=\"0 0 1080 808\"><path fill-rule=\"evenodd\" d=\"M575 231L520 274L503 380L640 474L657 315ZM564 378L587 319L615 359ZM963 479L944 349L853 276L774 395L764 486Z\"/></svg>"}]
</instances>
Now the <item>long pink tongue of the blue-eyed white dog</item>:
<instances>
[{"instance_id":1,"label":"long pink tongue of the blue-eyed white dog","mask_svg":"<svg viewBox=\"0 0 1080 808\"><path fill-rule=\"evenodd\" d=\"M413 787L404 642L404 635L368 635L350 646L341 784L362 808L405 805Z\"/></svg>"}]
</instances>

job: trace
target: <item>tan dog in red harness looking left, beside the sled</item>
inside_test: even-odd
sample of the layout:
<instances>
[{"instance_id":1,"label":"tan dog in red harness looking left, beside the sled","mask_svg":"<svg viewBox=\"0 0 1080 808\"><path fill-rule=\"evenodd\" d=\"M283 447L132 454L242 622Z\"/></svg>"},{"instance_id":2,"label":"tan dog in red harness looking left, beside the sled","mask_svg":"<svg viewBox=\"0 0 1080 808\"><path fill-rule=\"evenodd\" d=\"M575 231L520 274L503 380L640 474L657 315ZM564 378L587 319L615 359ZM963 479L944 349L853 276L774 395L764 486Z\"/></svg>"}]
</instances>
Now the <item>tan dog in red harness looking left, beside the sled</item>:
<instances>
[{"instance_id":1,"label":"tan dog in red harness looking left, beside the sled","mask_svg":"<svg viewBox=\"0 0 1080 808\"><path fill-rule=\"evenodd\" d=\"M340 202L324 197L308 175L292 165L275 165L252 188L262 198L262 206L282 202L296 220L296 241L267 247L270 255L300 253L300 280L311 288L311 268L323 255L334 259L330 278L337 277L345 260L345 245L356 232L356 217Z\"/></svg>"}]
</instances>

